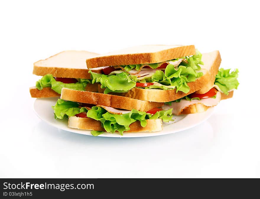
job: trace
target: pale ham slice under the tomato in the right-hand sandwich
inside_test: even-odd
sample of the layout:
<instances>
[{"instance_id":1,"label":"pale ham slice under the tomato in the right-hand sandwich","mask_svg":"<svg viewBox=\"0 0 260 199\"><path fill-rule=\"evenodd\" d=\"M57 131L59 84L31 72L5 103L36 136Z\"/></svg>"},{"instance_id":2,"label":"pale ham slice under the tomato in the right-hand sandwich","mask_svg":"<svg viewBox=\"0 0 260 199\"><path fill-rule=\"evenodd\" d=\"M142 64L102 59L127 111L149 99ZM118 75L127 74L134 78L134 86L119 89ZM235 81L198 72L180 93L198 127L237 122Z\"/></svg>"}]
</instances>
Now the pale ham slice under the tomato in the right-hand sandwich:
<instances>
[{"instance_id":1,"label":"pale ham slice under the tomato in the right-hand sandwich","mask_svg":"<svg viewBox=\"0 0 260 199\"><path fill-rule=\"evenodd\" d=\"M164 105L162 106L163 110L168 110L168 109L173 109L172 113L174 115L179 115L183 111L183 109L191 106L192 104L196 103L202 103L205 106L216 106L221 100L221 93L217 92L216 98L205 98L201 100L186 100L186 99L181 99L180 102L172 102L172 105Z\"/></svg>"}]
</instances>

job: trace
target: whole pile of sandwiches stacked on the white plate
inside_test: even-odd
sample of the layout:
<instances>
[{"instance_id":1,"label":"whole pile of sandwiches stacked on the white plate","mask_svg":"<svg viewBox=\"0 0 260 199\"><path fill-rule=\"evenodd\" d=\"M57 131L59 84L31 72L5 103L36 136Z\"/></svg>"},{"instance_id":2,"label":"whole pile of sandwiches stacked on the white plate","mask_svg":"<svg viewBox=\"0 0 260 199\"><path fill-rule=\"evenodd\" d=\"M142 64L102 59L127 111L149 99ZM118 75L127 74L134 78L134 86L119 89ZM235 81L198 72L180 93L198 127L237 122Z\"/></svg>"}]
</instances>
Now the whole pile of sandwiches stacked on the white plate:
<instances>
[{"instance_id":1,"label":"whole pile of sandwiches stacked on the white plate","mask_svg":"<svg viewBox=\"0 0 260 199\"><path fill-rule=\"evenodd\" d=\"M83 63L84 62L84 63ZM71 128L103 132L154 132L173 115L199 113L231 98L238 70L219 69L219 51L146 45L97 55L64 51L34 64L43 76L32 97L59 96L57 119ZM174 124L173 124L174 125Z\"/></svg>"}]
</instances>

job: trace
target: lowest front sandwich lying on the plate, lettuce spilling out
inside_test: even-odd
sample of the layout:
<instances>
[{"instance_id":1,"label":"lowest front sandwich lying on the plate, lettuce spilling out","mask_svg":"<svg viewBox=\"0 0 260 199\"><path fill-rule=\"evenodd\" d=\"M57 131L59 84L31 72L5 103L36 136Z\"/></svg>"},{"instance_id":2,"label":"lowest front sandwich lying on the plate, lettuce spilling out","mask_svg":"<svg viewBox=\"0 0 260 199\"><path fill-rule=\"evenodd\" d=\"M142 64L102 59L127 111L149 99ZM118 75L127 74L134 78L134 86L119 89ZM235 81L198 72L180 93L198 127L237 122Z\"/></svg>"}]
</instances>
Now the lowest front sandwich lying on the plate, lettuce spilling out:
<instances>
[{"instance_id":1,"label":"lowest front sandwich lying on the plate, lettuce spilling out","mask_svg":"<svg viewBox=\"0 0 260 199\"><path fill-rule=\"evenodd\" d=\"M172 121L172 109L157 107L163 103L62 88L61 98L53 106L56 119L68 119L68 127L103 132L155 132L163 122Z\"/></svg>"}]
</instances>

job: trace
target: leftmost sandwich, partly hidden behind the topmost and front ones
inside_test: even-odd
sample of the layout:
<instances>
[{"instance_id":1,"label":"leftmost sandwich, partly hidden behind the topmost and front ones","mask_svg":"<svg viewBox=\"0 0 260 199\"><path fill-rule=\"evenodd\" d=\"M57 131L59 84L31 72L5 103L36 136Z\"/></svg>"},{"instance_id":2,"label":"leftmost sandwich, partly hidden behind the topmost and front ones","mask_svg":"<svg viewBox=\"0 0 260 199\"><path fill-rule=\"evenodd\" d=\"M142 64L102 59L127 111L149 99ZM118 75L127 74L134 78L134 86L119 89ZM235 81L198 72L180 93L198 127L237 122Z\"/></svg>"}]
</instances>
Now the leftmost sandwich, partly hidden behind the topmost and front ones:
<instances>
[{"instance_id":1,"label":"leftmost sandwich, partly hidden behind the topmost and front ones","mask_svg":"<svg viewBox=\"0 0 260 199\"><path fill-rule=\"evenodd\" d=\"M97 92L97 86L89 84L90 73L86 67L86 59L97 55L88 51L63 51L35 62L33 74L43 77L30 88L31 97L60 96L62 88ZM95 72L101 73L102 69L97 68Z\"/></svg>"}]
</instances>

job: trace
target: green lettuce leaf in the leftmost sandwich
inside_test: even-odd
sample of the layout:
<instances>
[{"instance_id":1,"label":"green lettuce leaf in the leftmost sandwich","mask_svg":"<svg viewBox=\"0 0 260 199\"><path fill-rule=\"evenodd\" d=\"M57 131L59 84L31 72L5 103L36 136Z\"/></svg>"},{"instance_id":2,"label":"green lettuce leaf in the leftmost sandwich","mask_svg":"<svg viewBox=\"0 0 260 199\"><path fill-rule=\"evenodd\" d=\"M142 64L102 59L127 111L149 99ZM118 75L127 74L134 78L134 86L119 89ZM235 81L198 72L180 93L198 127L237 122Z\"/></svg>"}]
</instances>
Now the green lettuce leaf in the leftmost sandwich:
<instances>
[{"instance_id":1,"label":"green lettuce leaf in the leftmost sandwich","mask_svg":"<svg viewBox=\"0 0 260 199\"><path fill-rule=\"evenodd\" d=\"M38 90L42 90L45 87L51 87L52 90L61 94L62 88L69 88L73 90L86 90L85 87L88 83L90 83L90 80L78 79L78 82L76 83L67 84L56 81L52 75L48 74L44 75L40 80L36 82L36 88Z\"/></svg>"}]
</instances>

